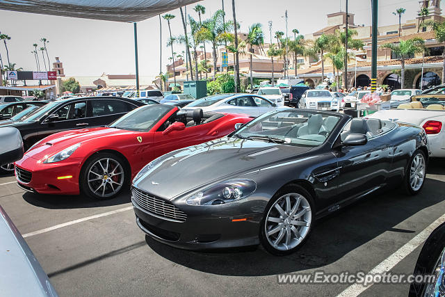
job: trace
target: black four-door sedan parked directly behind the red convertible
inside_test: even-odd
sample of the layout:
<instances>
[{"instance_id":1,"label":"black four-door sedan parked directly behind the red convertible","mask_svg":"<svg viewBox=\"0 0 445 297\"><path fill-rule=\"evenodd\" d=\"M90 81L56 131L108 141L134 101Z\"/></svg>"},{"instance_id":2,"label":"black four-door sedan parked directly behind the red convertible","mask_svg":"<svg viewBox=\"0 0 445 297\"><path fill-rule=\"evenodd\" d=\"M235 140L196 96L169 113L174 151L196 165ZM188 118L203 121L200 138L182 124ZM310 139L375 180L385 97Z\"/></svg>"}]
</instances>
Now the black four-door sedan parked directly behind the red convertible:
<instances>
[{"instance_id":1,"label":"black four-door sedan parked directly behind the red convertible","mask_svg":"<svg viewBox=\"0 0 445 297\"><path fill-rule=\"evenodd\" d=\"M24 120L2 123L0 127L19 129L25 150L28 150L36 142L59 131L108 125L143 105L121 97L76 97L49 102Z\"/></svg>"}]
</instances>

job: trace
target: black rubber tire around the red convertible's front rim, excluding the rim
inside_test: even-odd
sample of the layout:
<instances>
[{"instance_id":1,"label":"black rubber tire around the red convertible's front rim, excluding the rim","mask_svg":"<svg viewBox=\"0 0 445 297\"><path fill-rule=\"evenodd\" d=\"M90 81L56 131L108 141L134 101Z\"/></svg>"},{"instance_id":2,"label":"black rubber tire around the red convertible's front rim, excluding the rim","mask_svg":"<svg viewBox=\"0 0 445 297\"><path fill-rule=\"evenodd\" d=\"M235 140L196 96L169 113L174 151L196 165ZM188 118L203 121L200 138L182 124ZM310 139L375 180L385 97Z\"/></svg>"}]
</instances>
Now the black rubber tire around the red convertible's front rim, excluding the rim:
<instances>
[{"instance_id":1,"label":"black rubber tire around the red convertible's front rim, excluding the rim","mask_svg":"<svg viewBox=\"0 0 445 297\"><path fill-rule=\"evenodd\" d=\"M118 161L120 163L120 166L124 169L124 183L120 187L119 191L115 193L114 195L111 195L109 197L100 197L98 195L95 195L95 193L92 193L90 190L90 186L88 185L88 171L90 170L91 166L96 163L100 159L104 158L110 158L114 159L115 161ZM90 198L98 199L98 200L108 200L115 198L119 193L124 189L128 187L129 184L129 168L127 166L127 163L117 154L109 153L109 152L98 152L90 156L88 160L83 164L81 169L81 174L79 175L79 187L81 193L84 195L87 195Z\"/></svg>"}]
</instances>

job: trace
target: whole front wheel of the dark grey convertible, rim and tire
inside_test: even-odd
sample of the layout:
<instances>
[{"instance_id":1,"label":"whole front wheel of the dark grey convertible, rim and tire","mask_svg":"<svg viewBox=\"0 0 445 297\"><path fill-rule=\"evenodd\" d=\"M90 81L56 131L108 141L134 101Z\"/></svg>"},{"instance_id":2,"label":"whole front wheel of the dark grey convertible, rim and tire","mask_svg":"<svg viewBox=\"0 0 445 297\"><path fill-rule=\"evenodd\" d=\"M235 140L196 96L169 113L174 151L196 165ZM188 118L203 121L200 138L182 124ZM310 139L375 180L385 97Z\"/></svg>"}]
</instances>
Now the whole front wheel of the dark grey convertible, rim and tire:
<instances>
[{"instance_id":1,"label":"whole front wheel of the dark grey convertible, rim and tire","mask_svg":"<svg viewBox=\"0 0 445 297\"><path fill-rule=\"evenodd\" d=\"M285 186L270 200L261 222L260 241L273 255L289 255L298 250L312 230L314 202L298 185Z\"/></svg>"}]
</instances>

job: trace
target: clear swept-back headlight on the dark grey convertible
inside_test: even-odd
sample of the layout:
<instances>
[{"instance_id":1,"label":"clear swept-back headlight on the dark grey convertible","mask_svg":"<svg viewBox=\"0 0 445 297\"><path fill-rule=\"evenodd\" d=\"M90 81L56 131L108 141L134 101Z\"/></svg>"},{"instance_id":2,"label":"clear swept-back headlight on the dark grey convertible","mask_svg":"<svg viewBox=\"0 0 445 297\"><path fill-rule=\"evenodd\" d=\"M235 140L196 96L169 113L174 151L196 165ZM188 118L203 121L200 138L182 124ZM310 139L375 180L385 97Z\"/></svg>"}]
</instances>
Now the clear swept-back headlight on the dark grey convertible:
<instances>
[{"instance_id":1,"label":"clear swept-back headlight on the dark grey convertible","mask_svg":"<svg viewBox=\"0 0 445 297\"><path fill-rule=\"evenodd\" d=\"M238 201L252 195L257 189L252 179L231 179L206 188L187 198L189 205L216 205Z\"/></svg>"}]
</instances>

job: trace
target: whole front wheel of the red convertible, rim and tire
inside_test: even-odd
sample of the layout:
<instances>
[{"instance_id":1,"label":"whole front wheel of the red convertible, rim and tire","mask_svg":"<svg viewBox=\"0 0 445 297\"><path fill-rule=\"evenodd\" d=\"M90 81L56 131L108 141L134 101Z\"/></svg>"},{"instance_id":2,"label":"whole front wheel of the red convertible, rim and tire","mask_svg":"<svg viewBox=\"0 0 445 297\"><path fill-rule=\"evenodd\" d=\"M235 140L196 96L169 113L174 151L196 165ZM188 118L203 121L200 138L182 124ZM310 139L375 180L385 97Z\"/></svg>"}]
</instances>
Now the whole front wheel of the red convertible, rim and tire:
<instances>
[{"instance_id":1,"label":"whole front wheel of the red convertible, rim and tire","mask_svg":"<svg viewBox=\"0 0 445 297\"><path fill-rule=\"evenodd\" d=\"M127 184L125 163L115 154L99 153L81 170L81 191L91 198L111 199Z\"/></svg>"}]
</instances>

